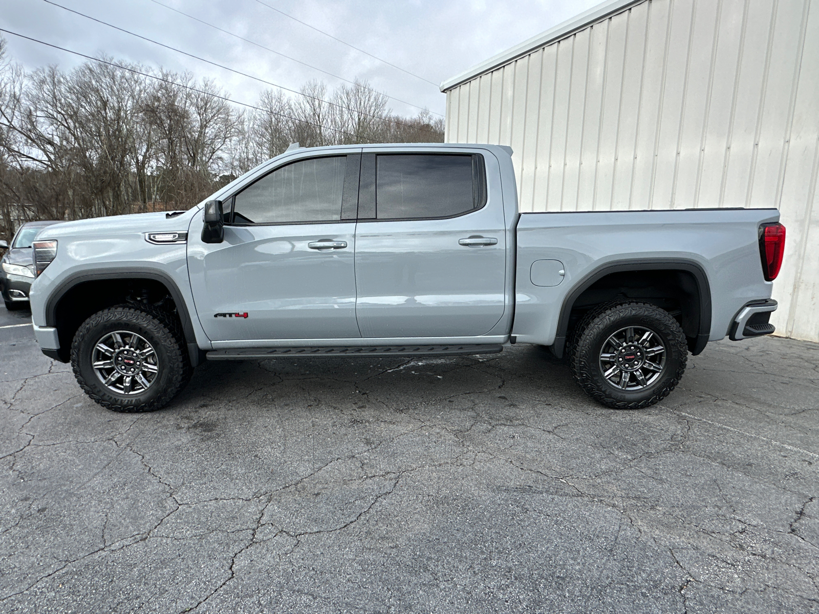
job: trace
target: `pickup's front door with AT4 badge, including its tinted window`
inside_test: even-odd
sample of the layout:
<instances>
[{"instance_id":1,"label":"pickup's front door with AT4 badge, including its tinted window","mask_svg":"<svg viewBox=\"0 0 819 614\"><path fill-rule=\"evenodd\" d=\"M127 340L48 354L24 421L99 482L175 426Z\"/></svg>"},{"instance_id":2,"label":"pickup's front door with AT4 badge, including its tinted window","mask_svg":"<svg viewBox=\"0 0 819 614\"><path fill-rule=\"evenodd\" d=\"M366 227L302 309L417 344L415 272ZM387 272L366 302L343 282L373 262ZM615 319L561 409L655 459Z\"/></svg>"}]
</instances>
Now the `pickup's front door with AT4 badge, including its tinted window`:
<instances>
[{"instance_id":1,"label":"pickup's front door with AT4 badge, including its tinted window","mask_svg":"<svg viewBox=\"0 0 819 614\"><path fill-rule=\"evenodd\" d=\"M359 165L358 155L325 156L266 174L225 202L230 208L221 243L202 242L201 221L194 219L188 269L211 341L360 337L354 262Z\"/></svg>"}]
</instances>

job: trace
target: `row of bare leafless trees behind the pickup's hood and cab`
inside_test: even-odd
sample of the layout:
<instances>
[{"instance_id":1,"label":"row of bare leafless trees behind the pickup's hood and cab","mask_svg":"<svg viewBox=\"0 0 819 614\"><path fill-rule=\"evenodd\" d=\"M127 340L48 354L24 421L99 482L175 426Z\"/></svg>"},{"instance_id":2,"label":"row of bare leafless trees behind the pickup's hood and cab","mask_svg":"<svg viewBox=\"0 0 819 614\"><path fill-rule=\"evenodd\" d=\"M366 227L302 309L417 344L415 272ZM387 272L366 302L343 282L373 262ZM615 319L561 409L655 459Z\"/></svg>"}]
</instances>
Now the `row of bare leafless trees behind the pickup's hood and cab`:
<instances>
[{"instance_id":1,"label":"row of bare leafless trees behind the pickup's hood and cab","mask_svg":"<svg viewBox=\"0 0 819 614\"><path fill-rule=\"evenodd\" d=\"M102 59L26 73L0 38L0 236L26 219L186 208L296 141L443 140L443 120L395 115L360 81L268 90L237 111L209 80Z\"/></svg>"}]
</instances>

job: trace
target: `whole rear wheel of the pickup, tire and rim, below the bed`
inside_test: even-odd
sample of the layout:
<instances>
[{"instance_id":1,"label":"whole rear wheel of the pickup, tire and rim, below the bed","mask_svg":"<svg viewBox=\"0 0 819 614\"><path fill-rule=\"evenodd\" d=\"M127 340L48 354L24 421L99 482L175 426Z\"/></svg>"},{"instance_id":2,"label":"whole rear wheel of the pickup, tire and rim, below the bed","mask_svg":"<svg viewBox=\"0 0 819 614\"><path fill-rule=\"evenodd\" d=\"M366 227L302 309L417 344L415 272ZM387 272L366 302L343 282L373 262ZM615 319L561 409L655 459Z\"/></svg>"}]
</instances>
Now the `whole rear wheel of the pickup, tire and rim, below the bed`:
<instances>
[{"instance_id":1,"label":"whole rear wheel of the pickup, tire and rim, below the bed","mask_svg":"<svg viewBox=\"0 0 819 614\"><path fill-rule=\"evenodd\" d=\"M657 403L686 371L686 336L654 305L630 302L592 314L573 339L569 363L577 383L614 409Z\"/></svg>"}]
</instances>

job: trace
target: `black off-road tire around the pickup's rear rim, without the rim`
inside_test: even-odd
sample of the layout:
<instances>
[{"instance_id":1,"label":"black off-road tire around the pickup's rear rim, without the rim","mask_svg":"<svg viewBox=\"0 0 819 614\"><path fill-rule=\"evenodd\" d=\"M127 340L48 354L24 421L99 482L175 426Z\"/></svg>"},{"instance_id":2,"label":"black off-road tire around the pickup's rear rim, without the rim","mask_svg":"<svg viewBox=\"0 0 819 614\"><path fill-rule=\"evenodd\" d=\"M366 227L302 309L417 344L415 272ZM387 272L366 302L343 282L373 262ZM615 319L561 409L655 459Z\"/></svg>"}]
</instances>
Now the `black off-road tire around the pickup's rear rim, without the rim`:
<instances>
[{"instance_id":1,"label":"black off-road tire around the pickup's rear rim, without the rim","mask_svg":"<svg viewBox=\"0 0 819 614\"><path fill-rule=\"evenodd\" d=\"M622 327L649 328L665 345L663 372L641 391L613 386L600 368L600 352L606 340ZM640 409L654 405L674 390L688 361L688 344L680 324L664 309L640 302L627 302L593 309L572 336L569 365L577 383L592 399L613 409Z\"/></svg>"}]
</instances>

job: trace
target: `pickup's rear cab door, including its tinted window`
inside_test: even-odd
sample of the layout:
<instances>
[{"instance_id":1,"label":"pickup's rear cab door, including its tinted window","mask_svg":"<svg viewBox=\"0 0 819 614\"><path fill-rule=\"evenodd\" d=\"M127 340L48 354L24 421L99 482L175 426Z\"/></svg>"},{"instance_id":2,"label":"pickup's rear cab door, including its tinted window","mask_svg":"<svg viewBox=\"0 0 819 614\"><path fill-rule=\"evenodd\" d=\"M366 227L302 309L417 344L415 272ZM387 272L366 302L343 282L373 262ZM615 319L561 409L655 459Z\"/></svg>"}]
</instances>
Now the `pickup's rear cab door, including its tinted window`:
<instances>
[{"instance_id":1,"label":"pickup's rear cab door, including its tinted window","mask_svg":"<svg viewBox=\"0 0 819 614\"><path fill-rule=\"evenodd\" d=\"M504 209L481 154L364 153L355 242L364 337L479 336L504 314Z\"/></svg>"}]
</instances>

